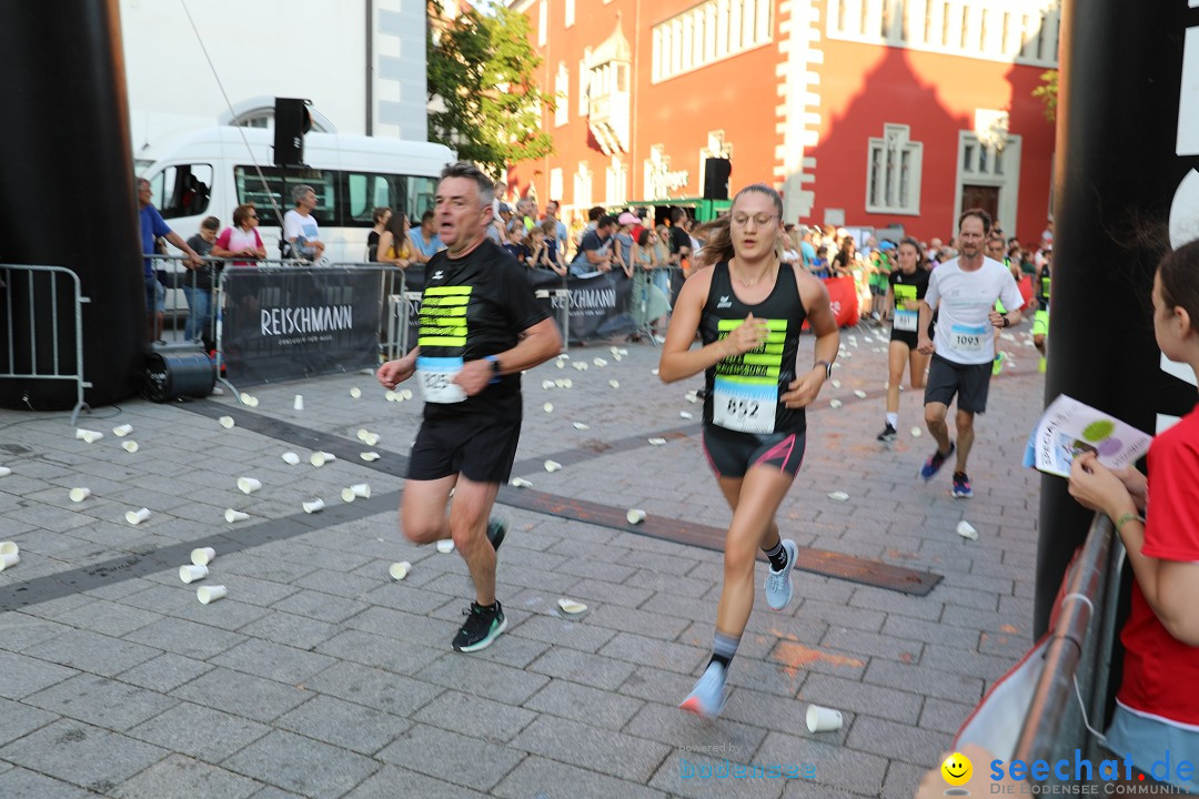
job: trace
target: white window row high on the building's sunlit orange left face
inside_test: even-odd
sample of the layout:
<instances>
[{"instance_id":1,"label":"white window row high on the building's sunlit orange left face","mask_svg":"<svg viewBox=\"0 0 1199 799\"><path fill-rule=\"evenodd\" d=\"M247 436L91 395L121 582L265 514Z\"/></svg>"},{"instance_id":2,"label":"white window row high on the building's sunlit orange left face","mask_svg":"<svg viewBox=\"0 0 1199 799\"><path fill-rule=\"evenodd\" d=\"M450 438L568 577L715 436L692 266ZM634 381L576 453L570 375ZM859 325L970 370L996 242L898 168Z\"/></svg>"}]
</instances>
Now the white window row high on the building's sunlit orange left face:
<instances>
[{"instance_id":1,"label":"white window row high on the building's sunlit orange left face","mask_svg":"<svg viewBox=\"0 0 1199 799\"><path fill-rule=\"evenodd\" d=\"M772 40L770 0L705 0L652 30L651 79L668 80Z\"/></svg>"}]
</instances>

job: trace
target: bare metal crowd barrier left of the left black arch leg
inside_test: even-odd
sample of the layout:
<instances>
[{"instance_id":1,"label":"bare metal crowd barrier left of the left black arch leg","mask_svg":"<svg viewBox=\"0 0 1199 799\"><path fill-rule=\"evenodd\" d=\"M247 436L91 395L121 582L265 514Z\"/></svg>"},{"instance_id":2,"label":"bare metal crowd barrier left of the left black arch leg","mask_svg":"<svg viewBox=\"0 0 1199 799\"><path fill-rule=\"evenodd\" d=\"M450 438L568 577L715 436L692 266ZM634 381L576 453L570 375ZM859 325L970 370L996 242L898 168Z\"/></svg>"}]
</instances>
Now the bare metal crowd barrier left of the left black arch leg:
<instances>
[{"instance_id":1,"label":"bare metal crowd barrier left of the left black arch leg","mask_svg":"<svg viewBox=\"0 0 1199 799\"><path fill-rule=\"evenodd\" d=\"M28 284L24 291L20 291L19 282L14 280L16 276L22 273L28 274ZM38 293L37 278L44 276L48 289L43 289L43 293ZM61 368L61 356L64 356L60 331L62 328L59 323L59 279L61 277L70 278L68 291L71 295L71 319L73 321L74 328L73 333L66 331L65 335L73 335L74 341L74 369L64 370ZM79 276L61 266L31 266L31 265L17 265L17 264L0 264L0 291L4 292L5 303L5 323L6 328L6 340L8 346L6 347L4 362L4 370L0 371L0 379L20 379L20 380L70 380L76 385L76 405L74 410L71 412L71 426L74 426L76 420L79 418L79 411L88 407L88 404L83 399L83 391L85 388L91 388L91 383L83 377L83 304L91 302L90 298L84 297L79 285ZM20 292L24 297L18 298L24 299L25 308L29 313L29 350L18 352L16 344L13 341L13 295ZM46 307L49 304L49 320L38 317L38 307ZM19 305L18 305L19 307ZM49 323L49 331L46 329L44 325ZM38 332L48 333L50 340L50 352L49 358L53 363L49 370L43 370L38 365L38 357L44 362L47 353L44 351L38 352L37 340ZM28 369L25 368L28 358Z\"/></svg>"}]
</instances>

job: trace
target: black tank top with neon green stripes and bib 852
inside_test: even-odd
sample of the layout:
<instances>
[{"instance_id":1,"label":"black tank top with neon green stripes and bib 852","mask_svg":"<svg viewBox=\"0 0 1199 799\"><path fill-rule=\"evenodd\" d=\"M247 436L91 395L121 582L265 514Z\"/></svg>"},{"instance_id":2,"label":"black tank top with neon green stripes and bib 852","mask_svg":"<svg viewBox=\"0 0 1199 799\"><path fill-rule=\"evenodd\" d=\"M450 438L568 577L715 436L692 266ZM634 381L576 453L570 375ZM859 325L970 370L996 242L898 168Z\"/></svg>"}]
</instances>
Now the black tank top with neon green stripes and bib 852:
<instances>
[{"instance_id":1,"label":"black tank top with neon green stripes and bib 852","mask_svg":"<svg viewBox=\"0 0 1199 799\"><path fill-rule=\"evenodd\" d=\"M712 267L699 322L704 345L727 337L751 311L766 321L770 335L757 350L724 358L704 373L704 423L758 435L805 432L803 408L788 408L778 400L795 380L800 331L807 319L791 266L779 266L773 290L757 305L737 298L727 261Z\"/></svg>"}]
</instances>

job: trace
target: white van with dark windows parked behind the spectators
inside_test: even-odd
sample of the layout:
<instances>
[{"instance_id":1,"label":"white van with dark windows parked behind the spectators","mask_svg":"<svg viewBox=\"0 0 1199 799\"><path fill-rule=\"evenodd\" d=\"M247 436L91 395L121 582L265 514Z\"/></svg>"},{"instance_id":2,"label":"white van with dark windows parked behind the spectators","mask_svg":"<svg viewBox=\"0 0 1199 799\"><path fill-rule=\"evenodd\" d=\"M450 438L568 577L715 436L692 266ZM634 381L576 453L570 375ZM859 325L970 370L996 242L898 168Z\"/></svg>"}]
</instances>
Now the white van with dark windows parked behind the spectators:
<instances>
[{"instance_id":1,"label":"white van with dark windows parked behind the spectators","mask_svg":"<svg viewBox=\"0 0 1199 799\"><path fill-rule=\"evenodd\" d=\"M294 207L291 188L307 183L317 190L313 216L325 242L324 261L362 262L374 224L372 211L380 206L404 211L418 225L421 214L433 208L441 169L456 159L440 144L309 133L303 152L307 167L284 169L272 163L273 143L272 131L231 126L177 139L144 171L155 206L171 230L189 238L205 217L217 217L223 230L231 224L235 207L253 202L266 255L279 258L278 217Z\"/></svg>"}]
</instances>

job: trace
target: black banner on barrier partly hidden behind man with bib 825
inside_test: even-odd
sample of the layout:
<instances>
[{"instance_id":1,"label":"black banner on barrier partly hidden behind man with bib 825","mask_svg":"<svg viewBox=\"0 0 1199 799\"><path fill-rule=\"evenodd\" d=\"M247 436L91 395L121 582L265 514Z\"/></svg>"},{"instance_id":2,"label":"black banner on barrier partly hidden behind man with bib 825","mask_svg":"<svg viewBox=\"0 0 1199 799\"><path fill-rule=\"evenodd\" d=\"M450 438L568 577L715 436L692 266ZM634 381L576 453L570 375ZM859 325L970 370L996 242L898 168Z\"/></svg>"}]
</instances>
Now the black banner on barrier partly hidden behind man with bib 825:
<instances>
[{"instance_id":1,"label":"black banner on barrier partly hidden behind man with bib 825","mask_svg":"<svg viewBox=\"0 0 1199 799\"><path fill-rule=\"evenodd\" d=\"M537 292L537 301L558 322L559 332L562 332L562 305L568 303L571 344L628 335L637 328L629 314L633 282L623 272L561 278L549 270L529 270L528 276ZM404 273L404 283L405 291L421 291L424 287L424 267L409 267ZM567 290L566 295L559 293L562 289ZM416 320L421 301L405 299L402 304L408 307L408 346L412 349L416 346Z\"/></svg>"}]
</instances>

